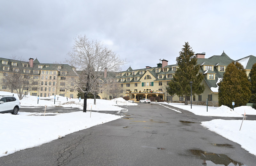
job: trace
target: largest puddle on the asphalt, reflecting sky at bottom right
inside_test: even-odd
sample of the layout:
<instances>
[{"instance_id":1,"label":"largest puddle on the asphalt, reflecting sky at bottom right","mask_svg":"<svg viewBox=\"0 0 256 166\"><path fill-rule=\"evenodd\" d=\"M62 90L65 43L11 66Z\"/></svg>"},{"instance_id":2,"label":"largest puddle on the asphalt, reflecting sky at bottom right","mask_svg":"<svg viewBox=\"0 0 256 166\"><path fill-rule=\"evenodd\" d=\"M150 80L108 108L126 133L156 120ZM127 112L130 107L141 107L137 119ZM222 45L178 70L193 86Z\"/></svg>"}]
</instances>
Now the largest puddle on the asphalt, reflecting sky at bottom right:
<instances>
[{"instance_id":1,"label":"largest puddle on the asphalt, reflecting sky at bottom right","mask_svg":"<svg viewBox=\"0 0 256 166\"><path fill-rule=\"evenodd\" d=\"M210 152L205 152L197 149L189 150L193 155L196 155L202 159L202 165L225 165L225 166L246 166L240 162L234 161L224 154L215 154Z\"/></svg>"}]
</instances>

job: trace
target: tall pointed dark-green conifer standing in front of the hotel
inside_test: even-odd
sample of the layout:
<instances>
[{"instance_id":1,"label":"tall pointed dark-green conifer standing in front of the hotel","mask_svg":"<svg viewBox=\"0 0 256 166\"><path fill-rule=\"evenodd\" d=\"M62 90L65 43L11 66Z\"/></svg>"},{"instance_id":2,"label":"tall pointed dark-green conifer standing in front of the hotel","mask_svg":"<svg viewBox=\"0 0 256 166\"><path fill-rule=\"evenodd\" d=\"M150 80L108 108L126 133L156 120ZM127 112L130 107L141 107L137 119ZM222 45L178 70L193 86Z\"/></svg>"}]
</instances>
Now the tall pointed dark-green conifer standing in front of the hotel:
<instances>
[{"instance_id":1,"label":"tall pointed dark-green conifer standing in front of the hotel","mask_svg":"<svg viewBox=\"0 0 256 166\"><path fill-rule=\"evenodd\" d=\"M188 98L191 95L190 81L192 83L192 95L201 94L204 92L204 85L202 85L202 80L204 75L199 73L200 65L197 64L196 56L193 49L189 46L188 42L183 45L184 48L180 51L180 56L176 58L179 68L175 75L173 76L172 83L176 89L176 94L178 96L185 97L185 105L188 105ZM171 87L170 87L171 88ZM173 91L174 92L174 91Z\"/></svg>"}]
</instances>

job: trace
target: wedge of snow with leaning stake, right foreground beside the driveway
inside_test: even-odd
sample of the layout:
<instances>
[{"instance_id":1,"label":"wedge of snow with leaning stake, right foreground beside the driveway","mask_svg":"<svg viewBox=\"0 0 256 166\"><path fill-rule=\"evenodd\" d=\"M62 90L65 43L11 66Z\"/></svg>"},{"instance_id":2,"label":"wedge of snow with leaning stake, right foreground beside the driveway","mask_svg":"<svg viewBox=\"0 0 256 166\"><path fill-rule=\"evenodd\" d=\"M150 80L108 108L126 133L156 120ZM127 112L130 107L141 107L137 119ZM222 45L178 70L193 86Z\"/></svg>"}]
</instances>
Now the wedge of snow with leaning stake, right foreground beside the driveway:
<instances>
[{"instance_id":1,"label":"wedge of snow with leaning stake, right foreground beside the driveway","mask_svg":"<svg viewBox=\"0 0 256 166\"><path fill-rule=\"evenodd\" d=\"M244 120L241 131L239 131L242 120L222 120L214 119L202 122L204 127L220 134L221 136L236 142L249 153L256 155L256 131L254 120Z\"/></svg>"}]
</instances>

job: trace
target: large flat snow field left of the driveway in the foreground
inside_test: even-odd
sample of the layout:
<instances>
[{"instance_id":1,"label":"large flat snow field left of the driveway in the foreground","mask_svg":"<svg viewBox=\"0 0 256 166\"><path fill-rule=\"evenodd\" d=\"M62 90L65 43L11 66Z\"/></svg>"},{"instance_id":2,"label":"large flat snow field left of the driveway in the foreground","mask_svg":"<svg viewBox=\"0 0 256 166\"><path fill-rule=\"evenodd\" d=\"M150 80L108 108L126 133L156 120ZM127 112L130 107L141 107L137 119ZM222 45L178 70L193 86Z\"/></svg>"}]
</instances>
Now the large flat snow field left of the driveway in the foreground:
<instances>
[{"instance_id":1,"label":"large flat snow field left of the driveway in the foreground","mask_svg":"<svg viewBox=\"0 0 256 166\"><path fill-rule=\"evenodd\" d=\"M15 116L0 114L0 157L121 117L92 112L90 118L90 113L82 111L55 116L32 116L35 114L42 113L19 112ZM19 141L15 141L17 138Z\"/></svg>"}]
</instances>

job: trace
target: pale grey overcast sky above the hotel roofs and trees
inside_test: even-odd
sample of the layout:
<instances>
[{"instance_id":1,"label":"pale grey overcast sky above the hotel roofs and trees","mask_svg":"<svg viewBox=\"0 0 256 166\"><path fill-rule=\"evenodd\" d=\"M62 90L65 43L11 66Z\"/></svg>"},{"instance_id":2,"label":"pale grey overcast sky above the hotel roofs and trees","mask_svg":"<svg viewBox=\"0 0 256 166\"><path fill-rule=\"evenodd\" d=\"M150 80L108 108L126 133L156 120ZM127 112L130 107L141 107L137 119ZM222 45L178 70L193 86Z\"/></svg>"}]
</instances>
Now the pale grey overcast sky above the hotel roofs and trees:
<instances>
[{"instance_id":1,"label":"pale grey overcast sky above the hotel roofs and trees","mask_svg":"<svg viewBox=\"0 0 256 166\"><path fill-rule=\"evenodd\" d=\"M103 41L127 70L176 64L185 42L205 57L256 56L256 1L2 0L0 57L64 62L77 34Z\"/></svg>"}]
</instances>

